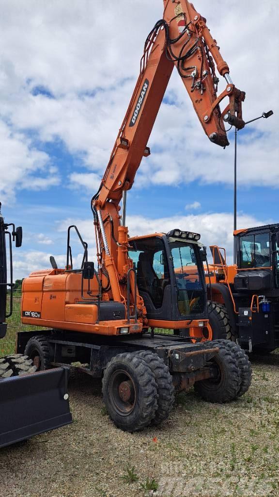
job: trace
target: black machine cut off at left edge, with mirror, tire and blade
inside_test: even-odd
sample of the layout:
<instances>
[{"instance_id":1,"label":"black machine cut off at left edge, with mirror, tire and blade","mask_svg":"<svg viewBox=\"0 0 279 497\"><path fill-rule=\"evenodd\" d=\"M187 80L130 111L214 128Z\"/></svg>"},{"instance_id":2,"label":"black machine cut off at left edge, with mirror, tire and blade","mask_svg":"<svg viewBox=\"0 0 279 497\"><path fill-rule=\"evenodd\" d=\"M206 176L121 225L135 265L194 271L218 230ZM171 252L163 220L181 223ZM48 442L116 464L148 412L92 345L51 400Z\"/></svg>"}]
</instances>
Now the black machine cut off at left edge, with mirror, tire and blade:
<instances>
[{"instance_id":1,"label":"black machine cut off at left edge, with mirror, tire and blade","mask_svg":"<svg viewBox=\"0 0 279 497\"><path fill-rule=\"evenodd\" d=\"M0 345L6 335L6 318L13 311L12 242L16 247L21 246L22 228L15 229L14 224L6 224L0 213ZM59 428L72 420L68 395L69 370L60 367L36 372L36 369L33 361L25 355L0 357L0 448Z\"/></svg>"}]
</instances>

